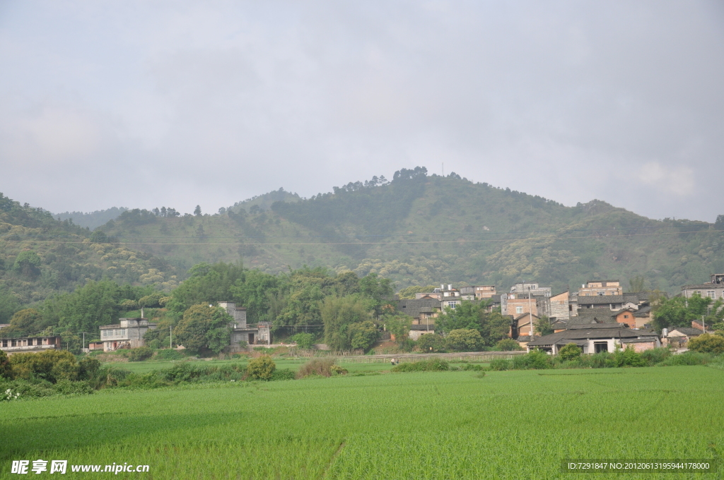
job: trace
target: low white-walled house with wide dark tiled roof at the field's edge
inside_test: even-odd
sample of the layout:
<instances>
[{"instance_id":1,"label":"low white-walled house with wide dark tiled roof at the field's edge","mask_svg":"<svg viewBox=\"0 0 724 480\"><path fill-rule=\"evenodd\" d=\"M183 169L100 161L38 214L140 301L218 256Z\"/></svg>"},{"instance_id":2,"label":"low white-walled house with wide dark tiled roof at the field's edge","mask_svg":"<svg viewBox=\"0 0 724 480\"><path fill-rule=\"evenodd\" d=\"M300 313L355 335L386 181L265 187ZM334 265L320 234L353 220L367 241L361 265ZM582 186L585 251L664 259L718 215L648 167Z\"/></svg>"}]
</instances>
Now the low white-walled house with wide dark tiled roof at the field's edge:
<instances>
[{"instance_id":1,"label":"low white-walled house with wide dark tiled roof at the field's edge","mask_svg":"<svg viewBox=\"0 0 724 480\"><path fill-rule=\"evenodd\" d=\"M568 329L551 333L530 341L526 348L557 354L568 343L575 343L583 353L613 352L616 346L626 348L631 345L636 351L649 350L661 346L657 333L647 330L632 330L618 323L569 325Z\"/></svg>"}]
</instances>

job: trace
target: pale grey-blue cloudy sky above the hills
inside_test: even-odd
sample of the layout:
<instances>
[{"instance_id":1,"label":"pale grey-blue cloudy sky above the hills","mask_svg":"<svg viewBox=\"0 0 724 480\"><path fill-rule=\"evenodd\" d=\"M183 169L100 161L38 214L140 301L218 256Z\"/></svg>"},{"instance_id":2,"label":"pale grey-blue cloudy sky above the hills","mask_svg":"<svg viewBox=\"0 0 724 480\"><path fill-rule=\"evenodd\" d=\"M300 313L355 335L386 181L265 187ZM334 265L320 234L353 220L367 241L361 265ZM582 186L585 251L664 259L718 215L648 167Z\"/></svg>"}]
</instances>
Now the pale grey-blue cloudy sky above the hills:
<instances>
[{"instance_id":1,"label":"pale grey-blue cloudy sky above the hills","mask_svg":"<svg viewBox=\"0 0 724 480\"><path fill-rule=\"evenodd\" d=\"M713 222L723 85L721 1L0 0L0 192L215 213L425 166Z\"/></svg>"}]
</instances>

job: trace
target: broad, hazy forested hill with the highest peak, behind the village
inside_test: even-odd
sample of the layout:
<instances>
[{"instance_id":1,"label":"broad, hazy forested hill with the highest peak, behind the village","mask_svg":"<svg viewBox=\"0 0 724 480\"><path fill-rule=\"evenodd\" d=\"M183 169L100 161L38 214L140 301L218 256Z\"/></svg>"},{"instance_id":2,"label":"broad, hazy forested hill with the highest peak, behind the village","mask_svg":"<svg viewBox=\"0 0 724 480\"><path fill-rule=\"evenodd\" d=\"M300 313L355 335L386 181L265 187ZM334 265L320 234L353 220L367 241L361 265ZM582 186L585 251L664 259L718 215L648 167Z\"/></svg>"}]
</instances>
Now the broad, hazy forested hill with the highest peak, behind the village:
<instances>
[{"instance_id":1,"label":"broad, hazy forested hill with the highest peak, behind the village","mask_svg":"<svg viewBox=\"0 0 724 480\"><path fill-rule=\"evenodd\" d=\"M358 181L266 211L179 217L130 210L101 229L180 269L242 257L269 273L301 265L379 273L397 288L507 288L529 280L555 291L642 275L645 288L675 293L724 271L718 223L652 220L598 200L566 207L418 167L397 171L392 181Z\"/></svg>"}]
</instances>

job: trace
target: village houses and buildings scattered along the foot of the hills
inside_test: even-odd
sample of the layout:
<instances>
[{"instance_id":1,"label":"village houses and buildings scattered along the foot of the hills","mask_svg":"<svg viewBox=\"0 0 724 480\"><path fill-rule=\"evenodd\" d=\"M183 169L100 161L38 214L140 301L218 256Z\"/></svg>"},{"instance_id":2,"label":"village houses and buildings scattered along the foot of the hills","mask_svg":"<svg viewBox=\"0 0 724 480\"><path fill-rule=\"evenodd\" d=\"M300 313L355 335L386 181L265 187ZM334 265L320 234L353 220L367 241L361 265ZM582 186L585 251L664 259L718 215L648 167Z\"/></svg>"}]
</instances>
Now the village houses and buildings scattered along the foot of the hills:
<instances>
[{"instance_id":1,"label":"village houses and buildings scattered along the foot of the hills","mask_svg":"<svg viewBox=\"0 0 724 480\"><path fill-rule=\"evenodd\" d=\"M679 295L685 299L694 295L712 301L724 299L724 274L711 275L708 283L682 286ZM655 331L652 302L665 298L665 293L661 292L624 293L619 280L591 280L578 291L555 294L550 287L539 283L516 283L509 292L499 292L492 285L454 288L452 284L441 284L433 291L416 293L414 299L400 299L395 295L394 304L397 312L412 318L408 333L411 340L419 340L422 335L435 335L438 315L469 301L484 302L489 312L497 311L508 318L508 337L515 340L521 350L537 349L555 355L573 343L584 354L614 352L617 348L641 352L661 346L686 351L691 338L707 333L707 325L703 320L692 320L690 327ZM253 346L274 346L270 322L248 325L245 307L231 301L219 301L218 305L233 319L229 325L230 345L224 348L226 353L251 350ZM541 320L552 333L536 334ZM0 338L1 328L7 326L0 325ZM146 344L144 335L155 328L156 324L143 317L121 318L118 324L101 326L98 333L101 340L89 342L84 350L116 351L142 347ZM712 332L711 326L709 331ZM390 333L381 333L381 336L395 340ZM58 336L1 338L0 348L9 355L60 349L62 339ZM317 344L317 348L328 349L324 344Z\"/></svg>"}]
</instances>

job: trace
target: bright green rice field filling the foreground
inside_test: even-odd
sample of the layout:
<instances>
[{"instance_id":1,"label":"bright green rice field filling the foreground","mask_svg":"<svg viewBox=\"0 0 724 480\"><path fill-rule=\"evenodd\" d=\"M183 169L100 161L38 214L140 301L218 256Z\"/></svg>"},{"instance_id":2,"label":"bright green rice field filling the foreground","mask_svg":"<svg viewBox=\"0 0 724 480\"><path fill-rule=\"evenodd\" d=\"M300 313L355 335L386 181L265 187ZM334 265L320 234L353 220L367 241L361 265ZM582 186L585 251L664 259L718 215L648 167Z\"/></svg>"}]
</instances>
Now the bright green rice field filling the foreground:
<instances>
[{"instance_id":1,"label":"bright green rice field filling the foreground","mask_svg":"<svg viewBox=\"0 0 724 480\"><path fill-rule=\"evenodd\" d=\"M146 464L114 475L143 479L720 479L560 463L722 453L724 370L710 367L382 372L0 403L0 478L41 458Z\"/></svg>"}]
</instances>

